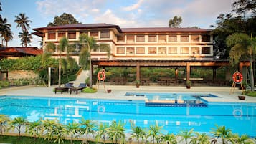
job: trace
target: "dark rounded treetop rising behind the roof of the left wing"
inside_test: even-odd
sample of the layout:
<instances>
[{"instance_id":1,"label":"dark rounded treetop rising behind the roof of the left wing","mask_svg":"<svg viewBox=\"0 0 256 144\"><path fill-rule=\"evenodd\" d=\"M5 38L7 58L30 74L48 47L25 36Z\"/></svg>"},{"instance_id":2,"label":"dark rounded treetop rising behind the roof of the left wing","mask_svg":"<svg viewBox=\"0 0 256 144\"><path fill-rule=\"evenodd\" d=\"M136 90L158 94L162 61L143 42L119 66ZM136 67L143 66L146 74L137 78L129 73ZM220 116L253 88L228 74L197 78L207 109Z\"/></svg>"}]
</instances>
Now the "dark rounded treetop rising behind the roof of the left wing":
<instances>
[{"instance_id":1,"label":"dark rounded treetop rising behind the roof of the left wing","mask_svg":"<svg viewBox=\"0 0 256 144\"><path fill-rule=\"evenodd\" d=\"M49 22L47 27L51 26L61 26L65 24L81 24L77 19L72 16L72 14L63 13L60 16L55 16L53 22Z\"/></svg>"}]
</instances>

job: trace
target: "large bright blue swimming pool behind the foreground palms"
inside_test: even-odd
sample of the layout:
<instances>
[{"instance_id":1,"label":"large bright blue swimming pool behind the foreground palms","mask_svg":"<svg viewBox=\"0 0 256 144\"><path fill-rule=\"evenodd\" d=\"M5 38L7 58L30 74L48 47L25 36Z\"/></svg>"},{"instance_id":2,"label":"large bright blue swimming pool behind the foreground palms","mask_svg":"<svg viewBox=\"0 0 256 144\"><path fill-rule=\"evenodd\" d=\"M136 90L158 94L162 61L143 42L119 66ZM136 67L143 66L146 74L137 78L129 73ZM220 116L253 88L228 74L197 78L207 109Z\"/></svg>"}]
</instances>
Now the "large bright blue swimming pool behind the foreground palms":
<instances>
[{"instance_id":1,"label":"large bright blue swimming pool behind the foreground palms","mask_svg":"<svg viewBox=\"0 0 256 144\"><path fill-rule=\"evenodd\" d=\"M190 128L208 133L215 125L225 125L233 133L256 136L255 106L255 103L207 102L207 107L165 107L147 106L144 100L0 97L0 114L11 118L23 116L29 121L57 118L63 124L78 122L81 117L102 123L121 120L127 130L131 122L143 128L158 123L164 125L164 133Z\"/></svg>"}]
</instances>

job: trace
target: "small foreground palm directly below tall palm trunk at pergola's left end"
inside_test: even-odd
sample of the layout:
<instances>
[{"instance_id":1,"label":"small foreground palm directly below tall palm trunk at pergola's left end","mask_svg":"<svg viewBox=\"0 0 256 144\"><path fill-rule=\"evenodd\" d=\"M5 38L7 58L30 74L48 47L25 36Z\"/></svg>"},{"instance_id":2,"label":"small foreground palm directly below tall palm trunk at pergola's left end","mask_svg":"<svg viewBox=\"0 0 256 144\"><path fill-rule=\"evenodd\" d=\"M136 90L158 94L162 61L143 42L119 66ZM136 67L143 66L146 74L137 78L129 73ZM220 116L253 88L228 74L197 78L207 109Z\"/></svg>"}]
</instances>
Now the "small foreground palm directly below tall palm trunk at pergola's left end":
<instances>
[{"instance_id":1,"label":"small foreground palm directly below tall palm trunk at pergola's left end","mask_svg":"<svg viewBox=\"0 0 256 144\"><path fill-rule=\"evenodd\" d=\"M95 129L95 123L92 120L85 120L84 118L80 121L80 131L82 135L86 135L86 143L88 142L88 135L93 134Z\"/></svg>"}]
</instances>

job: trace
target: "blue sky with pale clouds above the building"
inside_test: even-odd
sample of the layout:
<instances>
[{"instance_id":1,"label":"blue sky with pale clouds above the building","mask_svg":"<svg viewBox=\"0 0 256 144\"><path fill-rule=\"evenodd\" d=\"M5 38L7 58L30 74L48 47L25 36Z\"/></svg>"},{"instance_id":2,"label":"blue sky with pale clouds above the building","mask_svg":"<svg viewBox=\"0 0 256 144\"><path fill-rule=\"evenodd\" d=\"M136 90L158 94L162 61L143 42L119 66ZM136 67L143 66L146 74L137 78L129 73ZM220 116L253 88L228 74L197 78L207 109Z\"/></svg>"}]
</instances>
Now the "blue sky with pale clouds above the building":
<instances>
[{"instance_id":1,"label":"blue sky with pale clouds above the building","mask_svg":"<svg viewBox=\"0 0 256 144\"><path fill-rule=\"evenodd\" d=\"M210 29L219 14L232 11L235 0L0 0L1 16L11 24L14 38L9 47L21 47L15 16L24 13L33 28L46 27L54 16L68 13L82 24L106 23L119 27L168 27L169 19L181 16L181 27ZM31 47L40 37L32 35Z\"/></svg>"}]
</instances>

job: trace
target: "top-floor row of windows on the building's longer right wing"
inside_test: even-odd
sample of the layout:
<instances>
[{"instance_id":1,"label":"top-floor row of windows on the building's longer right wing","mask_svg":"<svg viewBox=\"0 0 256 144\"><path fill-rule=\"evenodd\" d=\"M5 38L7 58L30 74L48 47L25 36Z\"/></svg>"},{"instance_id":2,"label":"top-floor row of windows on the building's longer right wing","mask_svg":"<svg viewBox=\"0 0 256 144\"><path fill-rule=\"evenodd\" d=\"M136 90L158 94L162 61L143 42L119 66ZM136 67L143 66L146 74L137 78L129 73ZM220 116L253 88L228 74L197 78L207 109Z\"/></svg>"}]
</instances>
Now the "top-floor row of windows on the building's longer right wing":
<instances>
[{"instance_id":1,"label":"top-floor row of windows on the building's longer right wing","mask_svg":"<svg viewBox=\"0 0 256 144\"><path fill-rule=\"evenodd\" d=\"M210 42L211 37L210 35L199 35L194 34L189 35L126 35L126 42L146 42L146 38L148 39L147 42ZM158 41L157 41L158 40ZM118 35L118 42L125 42L125 35Z\"/></svg>"}]
</instances>

